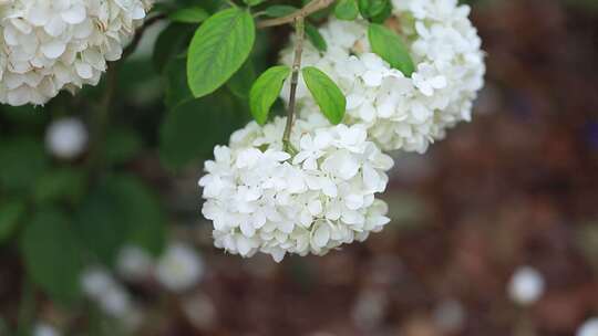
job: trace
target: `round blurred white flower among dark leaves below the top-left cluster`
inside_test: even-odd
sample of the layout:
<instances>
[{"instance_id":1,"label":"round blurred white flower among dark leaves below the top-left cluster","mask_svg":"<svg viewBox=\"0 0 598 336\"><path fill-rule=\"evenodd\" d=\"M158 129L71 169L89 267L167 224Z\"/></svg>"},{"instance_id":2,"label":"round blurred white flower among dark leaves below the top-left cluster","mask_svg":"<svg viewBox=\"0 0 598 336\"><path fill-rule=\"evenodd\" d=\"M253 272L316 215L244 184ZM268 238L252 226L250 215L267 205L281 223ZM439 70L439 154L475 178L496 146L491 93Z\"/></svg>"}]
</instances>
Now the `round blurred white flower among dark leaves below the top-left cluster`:
<instances>
[{"instance_id":1,"label":"round blurred white flower among dark leaves below the top-left cluster","mask_svg":"<svg viewBox=\"0 0 598 336\"><path fill-rule=\"evenodd\" d=\"M52 155L72 159L81 155L87 146L87 128L78 118L62 118L52 122L45 133L45 146Z\"/></svg>"}]
</instances>

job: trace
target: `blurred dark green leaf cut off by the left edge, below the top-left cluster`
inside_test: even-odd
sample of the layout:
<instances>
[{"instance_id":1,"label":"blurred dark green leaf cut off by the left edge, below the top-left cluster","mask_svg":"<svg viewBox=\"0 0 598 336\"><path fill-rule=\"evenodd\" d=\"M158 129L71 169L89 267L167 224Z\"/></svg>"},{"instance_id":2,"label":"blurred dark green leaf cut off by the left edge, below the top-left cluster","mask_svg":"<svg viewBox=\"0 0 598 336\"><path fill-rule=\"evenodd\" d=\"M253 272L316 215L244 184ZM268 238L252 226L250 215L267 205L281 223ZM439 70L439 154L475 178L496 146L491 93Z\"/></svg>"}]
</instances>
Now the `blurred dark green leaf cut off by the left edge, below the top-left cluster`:
<instances>
[{"instance_id":1,"label":"blurred dark green leaf cut off by the left edge, below the top-left cluster","mask_svg":"<svg viewBox=\"0 0 598 336\"><path fill-rule=\"evenodd\" d=\"M27 193L48 166L41 140L17 137L0 140L0 187Z\"/></svg>"}]
</instances>

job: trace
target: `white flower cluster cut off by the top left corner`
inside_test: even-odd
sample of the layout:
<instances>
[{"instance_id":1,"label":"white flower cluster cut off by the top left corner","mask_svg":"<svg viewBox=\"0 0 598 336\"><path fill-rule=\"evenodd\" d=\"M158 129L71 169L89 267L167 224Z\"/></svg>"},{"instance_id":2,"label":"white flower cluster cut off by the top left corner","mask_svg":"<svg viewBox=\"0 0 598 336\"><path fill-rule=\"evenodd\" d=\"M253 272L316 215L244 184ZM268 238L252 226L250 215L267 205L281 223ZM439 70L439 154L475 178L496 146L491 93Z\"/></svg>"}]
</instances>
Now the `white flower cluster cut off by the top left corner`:
<instances>
[{"instance_id":1,"label":"white flower cluster cut off by the top left corner","mask_svg":"<svg viewBox=\"0 0 598 336\"><path fill-rule=\"evenodd\" d=\"M0 103L44 104L96 85L151 0L0 0Z\"/></svg>"}]
</instances>

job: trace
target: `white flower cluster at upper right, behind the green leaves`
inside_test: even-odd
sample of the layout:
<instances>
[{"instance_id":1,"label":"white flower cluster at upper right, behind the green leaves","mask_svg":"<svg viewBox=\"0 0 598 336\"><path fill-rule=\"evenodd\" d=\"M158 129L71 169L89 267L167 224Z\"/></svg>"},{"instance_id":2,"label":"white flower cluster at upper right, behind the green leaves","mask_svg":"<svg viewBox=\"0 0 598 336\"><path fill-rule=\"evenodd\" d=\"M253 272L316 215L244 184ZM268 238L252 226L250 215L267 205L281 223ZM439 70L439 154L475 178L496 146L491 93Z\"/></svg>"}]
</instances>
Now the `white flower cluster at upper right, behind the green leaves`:
<instances>
[{"instance_id":1,"label":"white flower cluster at upper right, behind the green leaves","mask_svg":"<svg viewBox=\"0 0 598 336\"><path fill-rule=\"evenodd\" d=\"M470 120L472 102L483 86L481 39L457 0L393 0L388 22L405 40L415 62L406 77L371 52L363 20L331 19L320 29L326 52L307 43L303 64L326 72L347 95L348 124L363 124L383 150L424 153L447 128ZM292 63L292 48L281 61ZM288 83L287 83L288 85ZM288 90L282 96L288 99ZM302 114L318 111L305 84L298 90Z\"/></svg>"}]
</instances>

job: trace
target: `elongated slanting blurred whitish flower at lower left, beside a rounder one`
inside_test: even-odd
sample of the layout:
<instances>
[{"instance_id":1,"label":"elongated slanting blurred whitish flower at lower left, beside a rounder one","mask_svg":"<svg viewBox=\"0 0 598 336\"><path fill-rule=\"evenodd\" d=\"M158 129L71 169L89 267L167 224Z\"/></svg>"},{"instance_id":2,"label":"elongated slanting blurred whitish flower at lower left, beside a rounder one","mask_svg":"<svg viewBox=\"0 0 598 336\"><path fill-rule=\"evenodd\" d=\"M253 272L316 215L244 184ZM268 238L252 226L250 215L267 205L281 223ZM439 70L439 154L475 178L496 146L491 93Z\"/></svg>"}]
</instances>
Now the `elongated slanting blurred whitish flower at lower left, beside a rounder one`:
<instances>
[{"instance_id":1,"label":"elongated slanting blurred whitish flower at lower left, beside a rounder one","mask_svg":"<svg viewBox=\"0 0 598 336\"><path fill-rule=\"evenodd\" d=\"M81 282L83 293L97 303L105 314L121 318L132 312L131 296L106 271L89 269L83 273Z\"/></svg>"}]
</instances>

